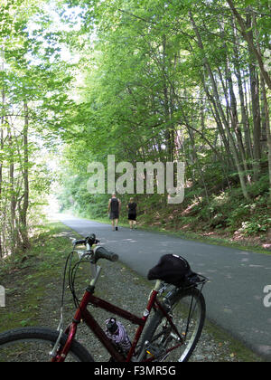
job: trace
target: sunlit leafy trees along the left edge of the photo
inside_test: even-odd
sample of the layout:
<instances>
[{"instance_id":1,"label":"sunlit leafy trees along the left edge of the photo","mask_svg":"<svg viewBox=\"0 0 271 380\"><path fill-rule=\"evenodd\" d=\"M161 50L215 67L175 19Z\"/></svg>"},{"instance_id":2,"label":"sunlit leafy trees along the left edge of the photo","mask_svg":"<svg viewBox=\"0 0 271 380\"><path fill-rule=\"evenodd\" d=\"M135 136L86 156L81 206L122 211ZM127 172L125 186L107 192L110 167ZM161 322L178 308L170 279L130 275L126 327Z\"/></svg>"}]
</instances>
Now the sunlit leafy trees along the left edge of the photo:
<instances>
[{"instance_id":1,"label":"sunlit leafy trees along the left edge of the photo","mask_svg":"<svg viewBox=\"0 0 271 380\"><path fill-rule=\"evenodd\" d=\"M67 126L72 101L61 33L41 3L1 0L0 258L29 248L31 225L50 192L46 163ZM31 222L33 221L33 222Z\"/></svg>"}]
</instances>

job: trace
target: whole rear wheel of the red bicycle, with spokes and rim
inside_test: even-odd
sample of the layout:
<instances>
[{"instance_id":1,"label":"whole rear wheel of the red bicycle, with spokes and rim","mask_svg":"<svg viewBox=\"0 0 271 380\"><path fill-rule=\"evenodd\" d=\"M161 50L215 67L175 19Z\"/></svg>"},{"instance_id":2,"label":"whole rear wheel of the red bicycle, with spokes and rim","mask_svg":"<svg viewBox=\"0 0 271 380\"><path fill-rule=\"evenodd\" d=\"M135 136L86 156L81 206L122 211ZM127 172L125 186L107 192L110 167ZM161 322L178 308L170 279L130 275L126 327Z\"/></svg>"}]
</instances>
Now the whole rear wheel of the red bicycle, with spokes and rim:
<instances>
[{"instance_id":1,"label":"whole rear wheel of the red bicycle, with spokes and rim","mask_svg":"<svg viewBox=\"0 0 271 380\"><path fill-rule=\"evenodd\" d=\"M167 318L161 311L156 311L143 338L144 342L148 342L145 360L188 361L201 337L205 314L205 300L200 290L193 288L180 292L171 303L169 315L182 336L182 342Z\"/></svg>"}]
</instances>

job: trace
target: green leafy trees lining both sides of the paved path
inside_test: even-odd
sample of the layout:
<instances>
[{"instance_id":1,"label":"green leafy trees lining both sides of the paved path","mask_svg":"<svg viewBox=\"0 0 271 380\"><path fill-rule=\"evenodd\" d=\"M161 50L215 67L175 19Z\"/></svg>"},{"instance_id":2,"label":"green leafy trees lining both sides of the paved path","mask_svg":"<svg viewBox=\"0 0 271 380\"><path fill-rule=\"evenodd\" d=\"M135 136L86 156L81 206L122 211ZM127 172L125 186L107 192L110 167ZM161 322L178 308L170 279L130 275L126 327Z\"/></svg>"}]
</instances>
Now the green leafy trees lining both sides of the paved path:
<instances>
[{"instance_id":1,"label":"green leafy trees lining both sides of the paved path","mask_svg":"<svg viewBox=\"0 0 271 380\"><path fill-rule=\"evenodd\" d=\"M104 216L88 166L108 155L185 164L184 202L137 195L143 217L268 233L270 15L268 0L1 0L0 256L27 249L53 180L62 209Z\"/></svg>"}]
</instances>

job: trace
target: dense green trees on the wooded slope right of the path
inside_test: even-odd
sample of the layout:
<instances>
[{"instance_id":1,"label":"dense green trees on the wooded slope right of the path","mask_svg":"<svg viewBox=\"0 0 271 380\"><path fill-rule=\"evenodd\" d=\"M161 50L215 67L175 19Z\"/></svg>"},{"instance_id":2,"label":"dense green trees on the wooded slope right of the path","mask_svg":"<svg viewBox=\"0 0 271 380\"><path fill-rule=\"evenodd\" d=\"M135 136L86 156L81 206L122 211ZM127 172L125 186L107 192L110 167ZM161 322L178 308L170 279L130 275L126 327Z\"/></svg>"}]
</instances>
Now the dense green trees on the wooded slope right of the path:
<instances>
[{"instance_id":1,"label":"dense green trees on the wooded slope right of the path","mask_svg":"<svg viewBox=\"0 0 271 380\"><path fill-rule=\"evenodd\" d=\"M80 51L79 138L64 155L63 208L106 214L108 195L86 190L91 161L107 167L108 154L134 166L179 160L186 166L184 203L171 207L163 195L138 195L149 222L158 211L177 228L197 220L265 233L268 2L70 1L75 5L81 32L94 37Z\"/></svg>"}]
</instances>

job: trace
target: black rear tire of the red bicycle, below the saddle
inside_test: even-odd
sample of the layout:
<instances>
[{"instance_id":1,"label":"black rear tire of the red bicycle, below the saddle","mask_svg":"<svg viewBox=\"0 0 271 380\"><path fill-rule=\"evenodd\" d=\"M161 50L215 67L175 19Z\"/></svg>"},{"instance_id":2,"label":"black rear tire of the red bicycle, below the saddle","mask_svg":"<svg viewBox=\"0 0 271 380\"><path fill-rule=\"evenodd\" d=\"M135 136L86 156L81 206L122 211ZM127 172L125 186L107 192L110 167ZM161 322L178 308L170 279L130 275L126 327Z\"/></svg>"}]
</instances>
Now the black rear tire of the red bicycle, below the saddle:
<instances>
[{"instance_id":1,"label":"black rear tire of the red bicycle, below the saddle","mask_svg":"<svg viewBox=\"0 0 271 380\"><path fill-rule=\"evenodd\" d=\"M192 333L192 337L190 338L189 341L185 341L185 343L183 345L184 351L183 351L182 355L179 357L178 360L175 359L175 360L169 360L169 361L187 362L190 359L190 357L192 356L192 352L195 349L195 347L196 347L196 345L197 345L197 343L201 337L201 332L202 332L202 328L204 326L204 321L205 321L205 316L206 316L206 305L205 305L205 299L204 299L200 290L198 290L197 288L192 288L192 289L183 290L183 291L181 290L180 292L177 292L173 296L173 299L168 299L168 302L166 305L170 304L171 309L175 309L178 305L180 305L182 300L184 300L185 298L188 298L188 297L195 299L196 305L199 308L199 317L196 321L196 327ZM188 308L186 307L186 309L188 309ZM170 314L171 314L171 312L170 312ZM159 348L159 345L157 345L156 340L158 338L161 338L161 337L164 339L165 334L167 334L167 336L169 337L170 327L168 327L167 329L164 328L164 332L157 333L158 328L160 326L162 326L164 320L165 320L165 318L164 318L164 315L162 314L162 312L160 310L155 311L154 316L153 316L153 318L151 318L150 323L148 325L148 328L146 329L145 335L142 339L141 347L143 347L145 342L149 342L150 347L152 347L152 345L154 345L154 346L156 345L155 347ZM173 317L173 323L176 326L176 321L175 321L174 317ZM167 331L167 333L165 331ZM179 333L181 333L181 331L179 329L178 329L178 331L179 331ZM156 336L154 336L154 334L156 334ZM183 333L181 333L181 334L183 335ZM185 334L185 337L186 336L188 336L187 332ZM160 346L162 346L162 344L160 344ZM162 349L162 348L160 347L160 349ZM148 352L148 354L150 354L150 351ZM154 357L154 354L153 354L153 360L154 361L164 361L166 358L168 358L168 357L170 358L171 354L172 353L169 353L166 356L163 356L163 354L161 354L158 357L157 356ZM146 359L147 359L147 354L145 354L145 356L143 356L143 361L145 361ZM149 359L150 359L150 357L149 357Z\"/></svg>"}]
</instances>

